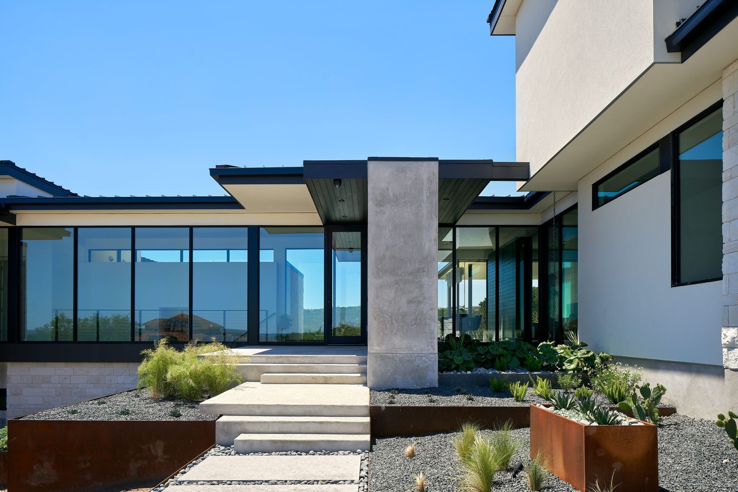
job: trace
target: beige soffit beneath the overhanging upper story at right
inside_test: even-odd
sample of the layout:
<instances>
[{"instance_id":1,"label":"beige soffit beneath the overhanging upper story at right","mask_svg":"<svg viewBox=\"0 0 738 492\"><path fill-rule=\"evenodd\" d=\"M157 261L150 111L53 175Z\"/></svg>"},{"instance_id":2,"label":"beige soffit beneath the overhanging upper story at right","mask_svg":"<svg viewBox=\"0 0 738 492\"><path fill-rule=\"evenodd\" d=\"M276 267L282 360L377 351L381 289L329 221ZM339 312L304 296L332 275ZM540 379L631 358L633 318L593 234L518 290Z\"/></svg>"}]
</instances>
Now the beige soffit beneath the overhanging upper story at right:
<instances>
[{"instance_id":1,"label":"beige soffit beneath the overhanging upper story at right","mask_svg":"<svg viewBox=\"0 0 738 492\"><path fill-rule=\"evenodd\" d=\"M736 58L738 18L714 34L700 48L699 56L692 56L685 63L652 63L579 134L570 139L548 162L538 167L531 179L519 189L576 191L578 181L602 162L610 159L697 94L720 81L723 69ZM718 100L719 96L716 100L709 101L705 108ZM665 131L654 142L673 129Z\"/></svg>"}]
</instances>

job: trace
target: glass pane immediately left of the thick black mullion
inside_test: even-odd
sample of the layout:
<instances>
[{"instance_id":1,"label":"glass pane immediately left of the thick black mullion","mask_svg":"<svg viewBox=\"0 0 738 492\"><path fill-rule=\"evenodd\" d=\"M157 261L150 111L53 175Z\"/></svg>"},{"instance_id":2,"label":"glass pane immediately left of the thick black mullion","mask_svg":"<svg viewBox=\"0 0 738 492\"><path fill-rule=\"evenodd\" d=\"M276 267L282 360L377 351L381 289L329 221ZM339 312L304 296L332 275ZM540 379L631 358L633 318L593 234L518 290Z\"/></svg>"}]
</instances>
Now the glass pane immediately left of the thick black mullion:
<instances>
[{"instance_id":1,"label":"glass pane immediately left of the thick black mullion","mask_svg":"<svg viewBox=\"0 0 738 492\"><path fill-rule=\"evenodd\" d=\"M247 239L246 227L193 228L193 339L247 339Z\"/></svg>"}]
</instances>

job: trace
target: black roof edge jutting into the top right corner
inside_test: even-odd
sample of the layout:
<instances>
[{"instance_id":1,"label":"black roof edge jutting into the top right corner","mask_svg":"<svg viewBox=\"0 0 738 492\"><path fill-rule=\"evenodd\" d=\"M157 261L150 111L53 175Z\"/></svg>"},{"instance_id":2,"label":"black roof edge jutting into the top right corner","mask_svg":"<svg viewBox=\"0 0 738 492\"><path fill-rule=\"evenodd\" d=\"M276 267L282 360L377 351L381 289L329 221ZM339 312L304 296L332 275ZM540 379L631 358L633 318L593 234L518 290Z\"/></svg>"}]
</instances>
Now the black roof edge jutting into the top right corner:
<instances>
[{"instance_id":1,"label":"black roof edge jutting into the top right corner","mask_svg":"<svg viewBox=\"0 0 738 492\"><path fill-rule=\"evenodd\" d=\"M706 0L666 37L666 51L681 52L682 63L738 17L738 1Z\"/></svg>"}]
</instances>

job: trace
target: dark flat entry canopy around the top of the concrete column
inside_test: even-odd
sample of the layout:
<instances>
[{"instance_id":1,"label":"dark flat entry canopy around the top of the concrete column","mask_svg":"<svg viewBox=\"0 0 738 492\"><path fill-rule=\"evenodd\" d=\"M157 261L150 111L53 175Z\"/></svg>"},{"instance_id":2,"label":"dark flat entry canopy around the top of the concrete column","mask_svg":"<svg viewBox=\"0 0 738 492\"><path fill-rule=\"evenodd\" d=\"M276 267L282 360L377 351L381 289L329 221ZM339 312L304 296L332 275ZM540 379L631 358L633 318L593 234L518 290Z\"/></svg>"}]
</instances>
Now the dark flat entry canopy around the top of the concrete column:
<instances>
[{"instance_id":1,"label":"dark flat entry canopy around the top of the concrete column","mask_svg":"<svg viewBox=\"0 0 738 492\"><path fill-rule=\"evenodd\" d=\"M489 181L530 177L527 162L435 157L304 161L303 167L216 167L210 175L246 212L317 212L325 225L364 224L368 218L367 162L376 160L438 161L440 224L455 224Z\"/></svg>"}]
</instances>

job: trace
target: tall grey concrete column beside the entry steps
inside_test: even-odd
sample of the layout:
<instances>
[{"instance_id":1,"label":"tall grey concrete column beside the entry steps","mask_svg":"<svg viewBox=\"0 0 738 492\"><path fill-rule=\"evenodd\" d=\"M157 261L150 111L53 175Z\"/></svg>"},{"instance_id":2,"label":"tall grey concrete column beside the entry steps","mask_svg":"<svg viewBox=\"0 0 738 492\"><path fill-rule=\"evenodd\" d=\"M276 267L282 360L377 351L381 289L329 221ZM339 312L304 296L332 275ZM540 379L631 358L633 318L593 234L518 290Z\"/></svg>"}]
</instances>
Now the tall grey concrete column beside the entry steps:
<instances>
[{"instance_id":1,"label":"tall grey concrete column beside the entry steps","mask_svg":"<svg viewBox=\"0 0 738 492\"><path fill-rule=\"evenodd\" d=\"M438 386L438 160L369 159L368 385Z\"/></svg>"}]
</instances>

